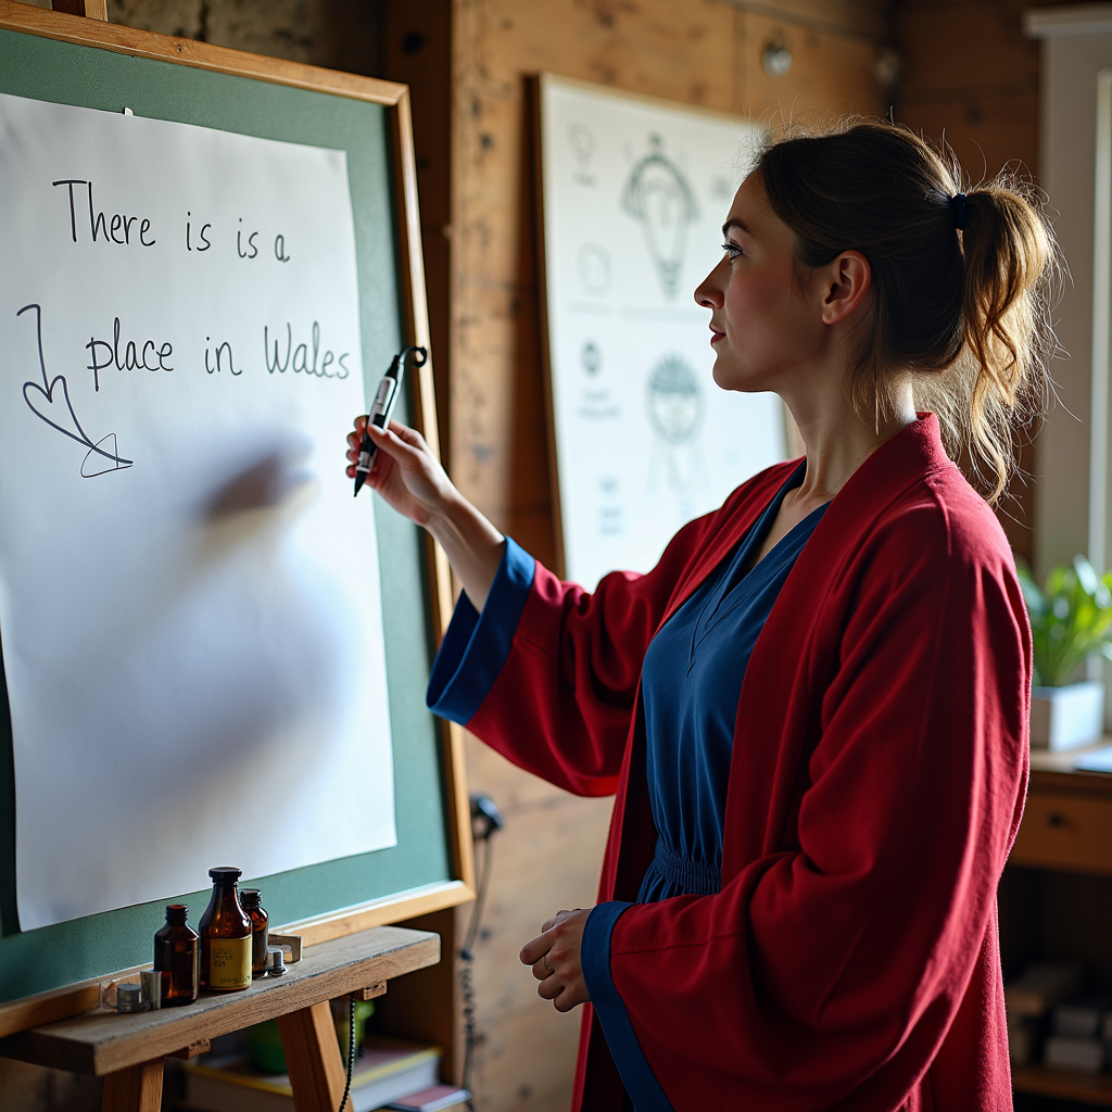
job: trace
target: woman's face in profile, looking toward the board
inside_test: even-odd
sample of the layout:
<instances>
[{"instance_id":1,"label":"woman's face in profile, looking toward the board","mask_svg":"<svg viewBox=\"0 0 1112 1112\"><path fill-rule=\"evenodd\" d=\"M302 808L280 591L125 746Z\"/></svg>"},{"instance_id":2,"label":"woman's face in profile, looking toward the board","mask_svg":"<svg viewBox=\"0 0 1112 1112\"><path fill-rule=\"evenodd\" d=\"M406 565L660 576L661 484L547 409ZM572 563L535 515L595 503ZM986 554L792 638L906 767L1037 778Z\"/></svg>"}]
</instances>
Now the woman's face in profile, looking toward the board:
<instances>
[{"instance_id":1,"label":"woman's face in profile, looking toward the board","mask_svg":"<svg viewBox=\"0 0 1112 1112\"><path fill-rule=\"evenodd\" d=\"M737 190L723 235L722 261L695 290L711 309L714 380L727 390L778 390L816 361L824 336L816 291L795 267L795 234L755 173Z\"/></svg>"}]
</instances>

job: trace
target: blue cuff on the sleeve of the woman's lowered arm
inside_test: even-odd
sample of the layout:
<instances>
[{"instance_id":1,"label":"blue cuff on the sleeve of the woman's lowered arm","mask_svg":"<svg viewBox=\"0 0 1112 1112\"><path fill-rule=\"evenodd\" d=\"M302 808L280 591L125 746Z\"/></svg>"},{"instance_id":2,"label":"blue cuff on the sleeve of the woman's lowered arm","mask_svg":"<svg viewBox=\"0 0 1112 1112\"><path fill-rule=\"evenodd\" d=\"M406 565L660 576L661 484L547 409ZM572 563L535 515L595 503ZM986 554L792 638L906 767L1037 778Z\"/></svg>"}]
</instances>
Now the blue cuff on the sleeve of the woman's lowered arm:
<instances>
[{"instance_id":1,"label":"blue cuff on the sleeve of the woman's lowered arm","mask_svg":"<svg viewBox=\"0 0 1112 1112\"><path fill-rule=\"evenodd\" d=\"M598 904L592 910L587 916L587 925L583 929L579 951L583 979L587 984L595 1016L603 1025L606 1045L634 1108L637 1112L673 1112L672 1103L641 1049L625 1002L614 987L614 977L610 975L610 936L614 934L614 925L632 906L633 904L615 900Z\"/></svg>"}]
</instances>

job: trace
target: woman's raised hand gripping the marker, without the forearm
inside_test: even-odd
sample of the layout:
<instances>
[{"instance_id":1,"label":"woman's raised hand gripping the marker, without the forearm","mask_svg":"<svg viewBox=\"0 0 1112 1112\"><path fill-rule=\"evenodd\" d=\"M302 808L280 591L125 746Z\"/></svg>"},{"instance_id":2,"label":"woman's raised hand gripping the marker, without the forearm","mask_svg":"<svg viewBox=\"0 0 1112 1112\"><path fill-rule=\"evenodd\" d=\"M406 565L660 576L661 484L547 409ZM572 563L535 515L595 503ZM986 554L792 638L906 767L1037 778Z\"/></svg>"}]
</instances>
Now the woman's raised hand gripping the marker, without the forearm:
<instances>
[{"instance_id":1,"label":"woman's raised hand gripping the marker, without the forearm","mask_svg":"<svg viewBox=\"0 0 1112 1112\"><path fill-rule=\"evenodd\" d=\"M417 525L428 527L433 517L444 512L455 495L440 461L429 450L425 437L416 429L391 420L385 429L367 426L366 417L356 417L355 431L348 434L348 478L355 478L359 446L369 431L378 451L367 476L367 486L377 490L399 514Z\"/></svg>"}]
</instances>

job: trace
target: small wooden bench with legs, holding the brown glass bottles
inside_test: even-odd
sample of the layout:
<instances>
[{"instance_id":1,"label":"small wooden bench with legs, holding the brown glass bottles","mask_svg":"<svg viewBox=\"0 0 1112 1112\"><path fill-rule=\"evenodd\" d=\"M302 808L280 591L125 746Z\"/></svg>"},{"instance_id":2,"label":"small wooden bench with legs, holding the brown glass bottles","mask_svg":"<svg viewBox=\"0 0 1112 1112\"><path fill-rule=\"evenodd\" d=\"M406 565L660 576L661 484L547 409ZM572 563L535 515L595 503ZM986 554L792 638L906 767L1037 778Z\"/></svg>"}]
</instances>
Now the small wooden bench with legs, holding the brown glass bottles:
<instances>
[{"instance_id":1,"label":"small wooden bench with legs, holding the brown glass bottles","mask_svg":"<svg viewBox=\"0 0 1112 1112\"><path fill-rule=\"evenodd\" d=\"M346 1076L328 1001L380 995L391 977L439 960L439 935L377 926L311 946L285 976L245 992L135 1015L87 1012L0 1040L0 1055L105 1078L105 1112L158 1112L165 1058L190 1058L218 1035L277 1020L298 1112L337 1112Z\"/></svg>"}]
</instances>

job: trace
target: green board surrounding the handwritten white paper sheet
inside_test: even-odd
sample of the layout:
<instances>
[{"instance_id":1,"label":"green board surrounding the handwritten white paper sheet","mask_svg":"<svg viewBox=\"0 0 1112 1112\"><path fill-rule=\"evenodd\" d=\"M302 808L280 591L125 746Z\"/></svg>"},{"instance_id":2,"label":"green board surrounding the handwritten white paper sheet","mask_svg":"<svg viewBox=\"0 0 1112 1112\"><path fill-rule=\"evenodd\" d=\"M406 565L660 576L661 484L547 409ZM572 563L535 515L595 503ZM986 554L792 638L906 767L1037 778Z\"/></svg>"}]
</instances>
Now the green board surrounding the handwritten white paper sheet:
<instances>
[{"instance_id":1,"label":"green board surrounding the handwritten white paper sheet","mask_svg":"<svg viewBox=\"0 0 1112 1112\"><path fill-rule=\"evenodd\" d=\"M406 180L399 172L399 160L405 153L401 143L408 121L401 120L399 132L397 108L389 97L383 95L375 102L375 89L386 88L384 83L365 81L360 87L358 79L348 79L347 87L340 83L346 95L320 91L304 86L312 83L314 72L325 71L289 66L289 76L284 77L282 63L266 61L262 66L262 60L216 48L205 48L203 57L195 54L189 63L180 64L151 57L172 57L173 50L180 50L176 40L162 39L159 46L160 37L140 39L139 32L122 29L90 31L90 37L108 37L111 49L43 37L43 26L61 27L64 33L66 24L43 24L50 12L24 9L23 16L12 11L20 7L0 8L0 92L112 112L128 107L137 116L347 151L363 360L373 389L391 355L409 342L406 334L414 327L411 322L424 319L424 305L415 305L423 292L415 288L407 256L415 229L404 226L403 202L407 198L399 196L404 188L399 182ZM39 22L24 26L32 11ZM72 26L75 21L68 22ZM13 24L21 29L10 29ZM147 49L129 52L129 44L140 42ZM219 71L214 60L220 69L237 72ZM240 76L251 71L252 62L260 63L264 79ZM281 83L284 80L296 80L302 87ZM321 83L329 86L329 81ZM337 82L331 86L335 89ZM384 311L384 306L389 310ZM419 414L420 401L419 394L410 394L409 411ZM427 410L427 399L424 408ZM405 419L405 414L400 416ZM378 500L376 514L380 548L389 553L380 564L397 845L251 878L265 892L272 924L373 904L414 890L454 892L440 901L445 906L467 894L463 885L454 883L459 881L454 862L460 860L451 817L458 770L450 766L445 735L426 709L424 697L431 661L430 631L435 627L429 549L408 522ZM254 790L265 791L265 785L254 785ZM43 805L49 806L49 801ZM162 922L163 904L170 900L185 901L191 917L199 917L207 901L207 868L211 864L202 861L197 862L197 892L168 892L157 903L21 932L16 904L14 807L11 723L4 691L0 701L0 1004L149 962L153 933ZM75 832L75 836L80 833ZM181 831L181 837L188 838L189 831ZM404 914L405 902L399 909ZM420 910L428 910L427 901Z\"/></svg>"}]
</instances>

